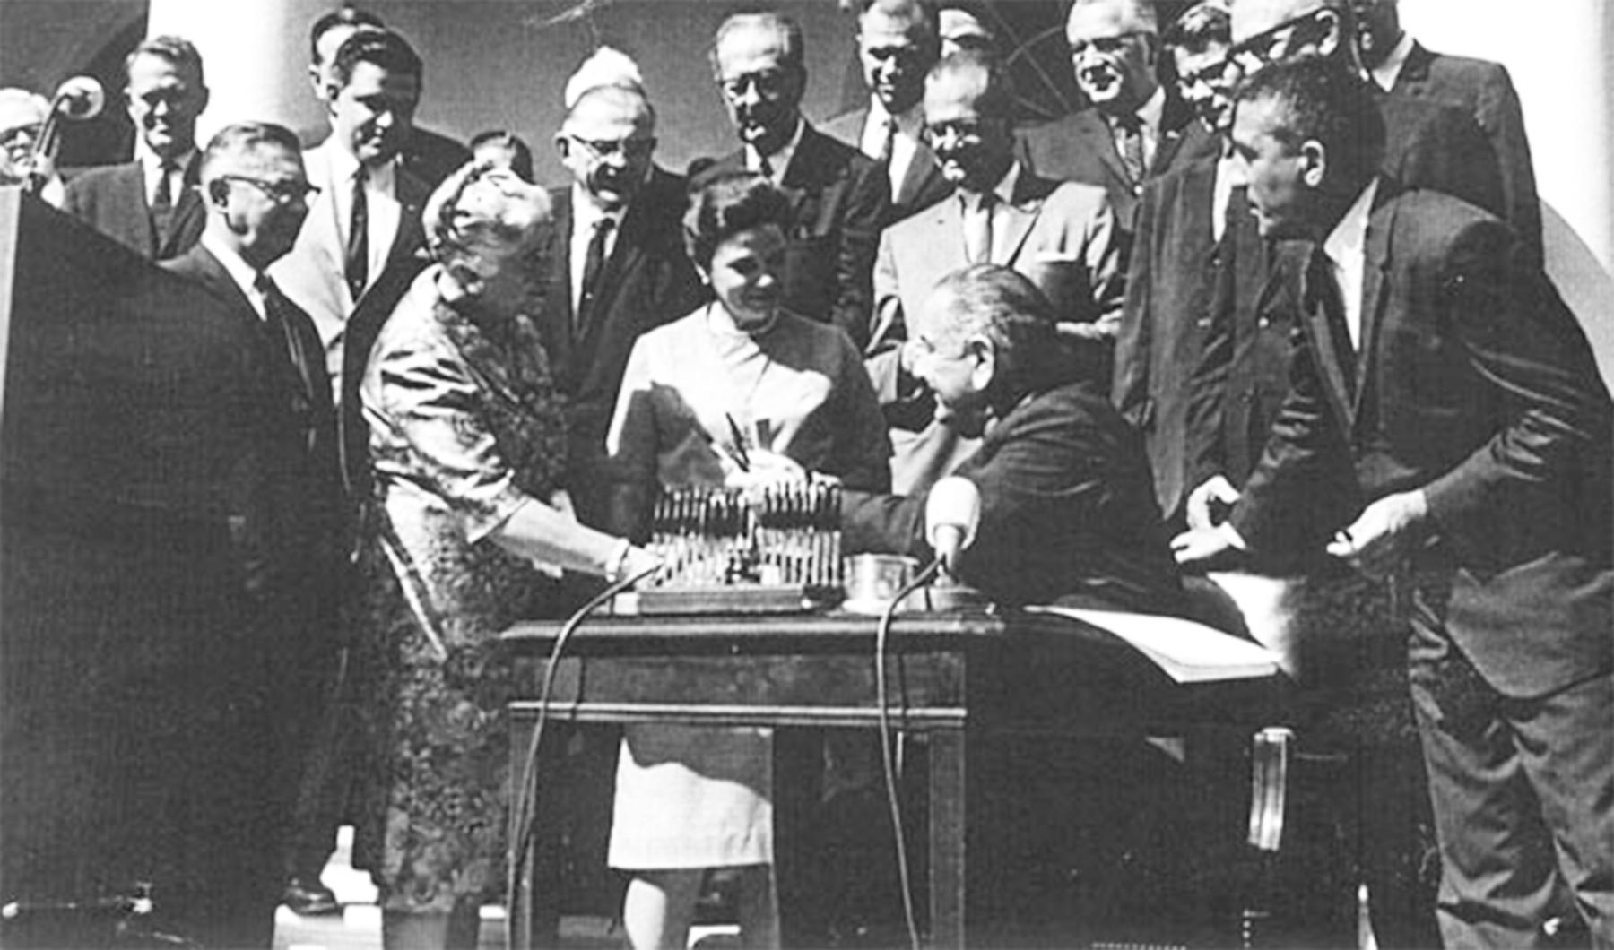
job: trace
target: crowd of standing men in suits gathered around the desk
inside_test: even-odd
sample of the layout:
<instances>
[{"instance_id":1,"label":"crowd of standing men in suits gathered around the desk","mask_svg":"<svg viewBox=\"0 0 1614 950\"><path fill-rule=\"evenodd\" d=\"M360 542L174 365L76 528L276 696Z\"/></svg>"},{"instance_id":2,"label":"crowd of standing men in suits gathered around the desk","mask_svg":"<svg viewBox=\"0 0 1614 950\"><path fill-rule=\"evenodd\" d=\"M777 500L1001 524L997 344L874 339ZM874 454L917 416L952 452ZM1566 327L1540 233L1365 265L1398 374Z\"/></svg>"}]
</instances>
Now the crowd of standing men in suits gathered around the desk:
<instances>
[{"instance_id":1,"label":"crowd of standing men in suits gathered around the desk","mask_svg":"<svg viewBox=\"0 0 1614 950\"><path fill-rule=\"evenodd\" d=\"M691 182L749 169L789 197L784 305L863 348L899 494L976 445L933 415L905 315L949 273L1012 268L1052 300L1083 373L1110 379L1185 566L1346 565L1406 595L1411 768L1443 874L1438 894L1374 877L1417 860L1403 826L1420 805L1386 798L1424 785L1361 789L1364 821L1388 829L1364 835L1388 852L1364 861L1382 939L1535 945L1580 919L1614 944L1609 400L1541 273L1506 69L1424 48L1396 0L1206 0L1170 23L1151 0L1077 0L1064 31L1086 105L1025 124L988 8L849 6L868 102L822 124L801 111L797 24L721 23L710 63L736 142L688 179L654 160L654 90L629 60L602 50L568 85L554 147L573 181L552 192L536 316L578 516L602 516L634 339L705 297L679 231ZM310 55L321 144L237 123L199 148L200 56L142 42L134 161L71 177L60 205L263 329L300 527L265 555L299 569L266 563L261 584L302 658L287 732L320 734L287 744L302 782L284 871L287 900L323 910L342 729L310 710L339 668L344 513L366 490L355 387L423 266L421 206L471 152L413 126L421 58L374 16L321 18ZM0 124L37 110L0 105Z\"/></svg>"}]
</instances>

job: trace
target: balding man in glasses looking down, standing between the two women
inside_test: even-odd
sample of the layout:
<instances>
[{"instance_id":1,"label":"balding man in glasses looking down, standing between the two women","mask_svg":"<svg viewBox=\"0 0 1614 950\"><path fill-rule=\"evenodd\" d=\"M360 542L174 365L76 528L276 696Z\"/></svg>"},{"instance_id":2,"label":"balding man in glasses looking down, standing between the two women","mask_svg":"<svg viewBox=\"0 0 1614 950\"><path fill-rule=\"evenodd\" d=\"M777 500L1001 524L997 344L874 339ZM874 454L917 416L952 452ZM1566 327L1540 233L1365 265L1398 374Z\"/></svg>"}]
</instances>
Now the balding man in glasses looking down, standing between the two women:
<instances>
[{"instance_id":1,"label":"balding man in glasses looking down, standing between the two women","mask_svg":"<svg viewBox=\"0 0 1614 950\"><path fill-rule=\"evenodd\" d=\"M584 89L555 148L573 181L550 190L557 245L537 327L567 395L567 490L584 524L605 527L605 429L628 353L639 334L700 305L705 289L684 253L684 179L655 166L655 110L642 87Z\"/></svg>"}]
</instances>

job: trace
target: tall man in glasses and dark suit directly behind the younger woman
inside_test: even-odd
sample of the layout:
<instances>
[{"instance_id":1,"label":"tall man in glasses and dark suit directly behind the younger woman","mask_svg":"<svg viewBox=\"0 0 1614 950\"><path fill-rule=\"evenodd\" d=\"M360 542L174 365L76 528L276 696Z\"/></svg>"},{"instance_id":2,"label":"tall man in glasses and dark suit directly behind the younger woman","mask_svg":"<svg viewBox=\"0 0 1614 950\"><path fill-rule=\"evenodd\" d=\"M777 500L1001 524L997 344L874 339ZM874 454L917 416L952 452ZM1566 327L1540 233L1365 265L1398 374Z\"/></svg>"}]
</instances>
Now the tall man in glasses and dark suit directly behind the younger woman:
<instances>
[{"instance_id":1,"label":"tall man in glasses and dark suit directly behind the younger woman","mask_svg":"<svg viewBox=\"0 0 1614 950\"><path fill-rule=\"evenodd\" d=\"M884 169L801 115L807 87L801 26L780 13L738 13L712 40L712 76L739 134L738 152L689 166L699 187L757 171L796 210L784 250L784 306L868 340L880 229L891 213Z\"/></svg>"}]
</instances>

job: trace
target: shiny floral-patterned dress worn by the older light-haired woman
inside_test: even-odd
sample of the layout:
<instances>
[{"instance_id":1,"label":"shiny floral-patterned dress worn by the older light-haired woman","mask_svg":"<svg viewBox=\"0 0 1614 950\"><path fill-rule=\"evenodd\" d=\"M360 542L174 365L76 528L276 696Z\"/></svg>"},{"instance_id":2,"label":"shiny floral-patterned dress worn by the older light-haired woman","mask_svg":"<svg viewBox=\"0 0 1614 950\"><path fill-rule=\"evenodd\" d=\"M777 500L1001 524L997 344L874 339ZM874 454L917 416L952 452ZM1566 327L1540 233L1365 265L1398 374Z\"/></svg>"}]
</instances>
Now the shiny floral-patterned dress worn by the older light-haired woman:
<instances>
[{"instance_id":1,"label":"shiny floral-patterned dress worn by the older light-haired woman","mask_svg":"<svg viewBox=\"0 0 1614 950\"><path fill-rule=\"evenodd\" d=\"M389 910L447 911L504 885L505 702L494 642L552 582L487 539L547 498L565 427L531 321L449 306L424 271L383 327L360 395L374 498L350 605L373 761L355 863Z\"/></svg>"}]
</instances>

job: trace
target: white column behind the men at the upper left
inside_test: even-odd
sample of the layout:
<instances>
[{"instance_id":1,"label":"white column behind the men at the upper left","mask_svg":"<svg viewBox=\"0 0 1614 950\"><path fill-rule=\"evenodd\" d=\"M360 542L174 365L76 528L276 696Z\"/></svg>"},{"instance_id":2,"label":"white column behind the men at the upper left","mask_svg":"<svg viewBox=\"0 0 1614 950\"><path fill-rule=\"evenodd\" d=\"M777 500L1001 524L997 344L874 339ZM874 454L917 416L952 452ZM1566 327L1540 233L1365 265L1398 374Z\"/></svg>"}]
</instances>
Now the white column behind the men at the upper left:
<instances>
[{"instance_id":1,"label":"white column behind the men at the upper left","mask_svg":"<svg viewBox=\"0 0 1614 950\"><path fill-rule=\"evenodd\" d=\"M239 121L271 121L294 131L324 119L308 85L308 27L329 0L150 0L148 35L173 34L197 45L213 92L197 123L197 142Z\"/></svg>"}]
</instances>

